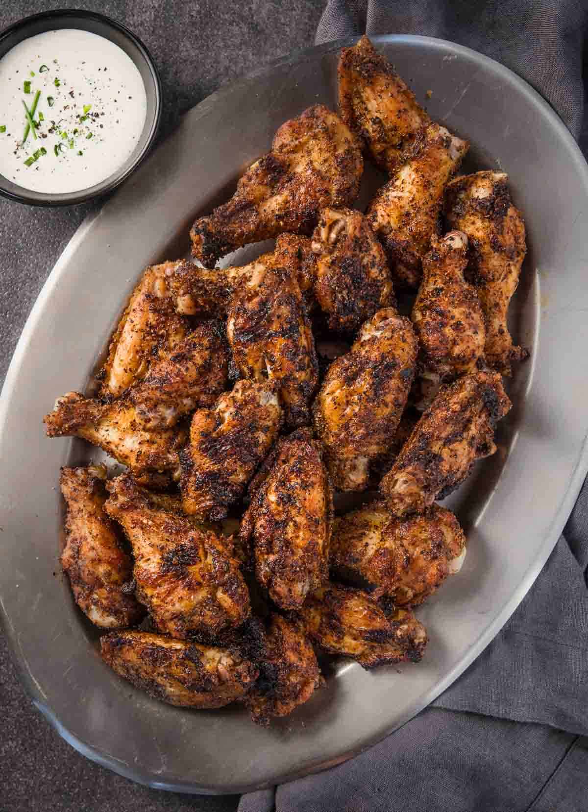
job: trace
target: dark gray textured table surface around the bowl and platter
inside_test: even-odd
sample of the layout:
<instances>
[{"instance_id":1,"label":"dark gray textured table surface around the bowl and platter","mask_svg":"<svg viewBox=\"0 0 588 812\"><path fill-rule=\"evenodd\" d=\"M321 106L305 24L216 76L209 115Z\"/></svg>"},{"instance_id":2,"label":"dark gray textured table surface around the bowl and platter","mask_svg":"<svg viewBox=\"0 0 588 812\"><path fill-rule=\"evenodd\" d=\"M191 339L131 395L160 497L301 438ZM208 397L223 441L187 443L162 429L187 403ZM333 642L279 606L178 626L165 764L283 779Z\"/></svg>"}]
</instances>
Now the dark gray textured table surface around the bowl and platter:
<instances>
[{"instance_id":1,"label":"dark gray textured table surface around the bowl and platter","mask_svg":"<svg viewBox=\"0 0 588 812\"><path fill-rule=\"evenodd\" d=\"M162 136L221 84L313 44L325 0L115 0L0 3L0 29L71 5L128 25L153 54L163 84ZM0 201L0 382L54 262L93 205L36 209ZM34 391L32 392L34 396ZM5 460L6 464L6 460ZM32 707L0 636L0 812L234 810L236 797L162 793L87 761Z\"/></svg>"}]
</instances>

